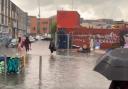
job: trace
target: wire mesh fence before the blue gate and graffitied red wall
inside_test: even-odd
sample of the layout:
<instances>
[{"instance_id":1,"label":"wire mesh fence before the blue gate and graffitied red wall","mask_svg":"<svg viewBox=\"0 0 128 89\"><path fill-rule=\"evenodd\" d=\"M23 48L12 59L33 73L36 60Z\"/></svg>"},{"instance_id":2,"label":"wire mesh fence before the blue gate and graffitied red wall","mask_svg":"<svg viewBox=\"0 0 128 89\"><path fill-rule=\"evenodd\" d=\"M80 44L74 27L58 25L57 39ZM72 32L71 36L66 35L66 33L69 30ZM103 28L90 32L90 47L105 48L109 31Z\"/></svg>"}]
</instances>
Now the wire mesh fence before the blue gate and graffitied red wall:
<instances>
[{"instance_id":1,"label":"wire mesh fence before the blue gate and graffitied red wall","mask_svg":"<svg viewBox=\"0 0 128 89\"><path fill-rule=\"evenodd\" d=\"M55 44L58 49L72 49L87 45L89 48L116 48L120 46L120 37L111 32L106 34L56 34Z\"/></svg>"}]
</instances>

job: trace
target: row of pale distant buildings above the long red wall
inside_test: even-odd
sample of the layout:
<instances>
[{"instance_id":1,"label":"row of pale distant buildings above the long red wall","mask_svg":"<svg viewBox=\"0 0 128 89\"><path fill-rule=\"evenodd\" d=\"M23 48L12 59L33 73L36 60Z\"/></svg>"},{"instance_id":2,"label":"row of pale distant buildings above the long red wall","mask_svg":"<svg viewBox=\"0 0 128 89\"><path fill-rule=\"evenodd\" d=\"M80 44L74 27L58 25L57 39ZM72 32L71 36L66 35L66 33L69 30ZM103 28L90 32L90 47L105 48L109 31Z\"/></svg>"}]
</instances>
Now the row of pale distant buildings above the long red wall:
<instances>
[{"instance_id":1,"label":"row of pale distant buildings above the long red wall","mask_svg":"<svg viewBox=\"0 0 128 89\"><path fill-rule=\"evenodd\" d=\"M125 21L115 21L112 19L83 20L82 27L94 29L127 29L128 23Z\"/></svg>"}]
</instances>

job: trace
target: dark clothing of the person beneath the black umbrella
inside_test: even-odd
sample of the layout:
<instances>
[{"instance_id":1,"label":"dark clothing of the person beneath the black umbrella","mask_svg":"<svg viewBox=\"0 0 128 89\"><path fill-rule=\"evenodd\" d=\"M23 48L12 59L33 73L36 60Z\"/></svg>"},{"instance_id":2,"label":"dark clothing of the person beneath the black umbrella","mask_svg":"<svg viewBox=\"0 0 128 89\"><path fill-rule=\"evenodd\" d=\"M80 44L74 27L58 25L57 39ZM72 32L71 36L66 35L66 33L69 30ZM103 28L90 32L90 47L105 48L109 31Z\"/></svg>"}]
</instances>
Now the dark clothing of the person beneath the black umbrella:
<instances>
[{"instance_id":1,"label":"dark clothing of the person beneath the black umbrella","mask_svg":"<svg viewBox=\"0 0 128 89\"><path fill-rule=\"evenodd\" d=\"M128 81L112 81L109 89L128 89Z\"/></svg>"}]
</instances>

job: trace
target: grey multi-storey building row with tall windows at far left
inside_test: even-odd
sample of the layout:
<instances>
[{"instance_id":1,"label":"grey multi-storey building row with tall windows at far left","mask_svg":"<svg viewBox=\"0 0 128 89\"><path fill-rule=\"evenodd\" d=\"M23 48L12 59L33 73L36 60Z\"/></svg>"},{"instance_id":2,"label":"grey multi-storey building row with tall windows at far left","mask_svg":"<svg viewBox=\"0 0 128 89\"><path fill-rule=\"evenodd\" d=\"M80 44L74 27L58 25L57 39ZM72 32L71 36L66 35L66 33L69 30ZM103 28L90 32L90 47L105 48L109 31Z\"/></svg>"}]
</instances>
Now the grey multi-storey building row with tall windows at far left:
<instances>
[{"instance_id":1,"label":"grey multi-storey building row with tall windows at far left","mask_svg":"<svg viewBox=\"0 0 128 89\"><path fill-rule=\"evenodd\" d=\"M10 0L0 0L0 36L10 38L26 34L27 13Z\"/></svg>"}]
</instances>

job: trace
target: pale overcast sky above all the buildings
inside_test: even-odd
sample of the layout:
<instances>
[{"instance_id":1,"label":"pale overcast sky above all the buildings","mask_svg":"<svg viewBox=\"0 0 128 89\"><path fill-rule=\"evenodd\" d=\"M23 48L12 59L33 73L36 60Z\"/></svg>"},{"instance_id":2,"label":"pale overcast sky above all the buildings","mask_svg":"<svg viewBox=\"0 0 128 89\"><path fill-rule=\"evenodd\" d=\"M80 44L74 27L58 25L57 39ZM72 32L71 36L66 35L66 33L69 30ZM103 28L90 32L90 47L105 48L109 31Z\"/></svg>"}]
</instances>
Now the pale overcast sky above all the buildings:
<instances>
[{"instance_id":1,"label":"pale overcast sky above all the buildings","mask_svg":"<svg viewBox=\"0 0 128 89\"><path fill-rule=\"evenodd\" d=\"M39 0L11 0L29 15L38 16ZM40 0L41 17L57 10L72 10L72 0ZM84 19L108 18L128 21L128 0L73 0L73 9Z\"/></svg>"}]
</instances>

